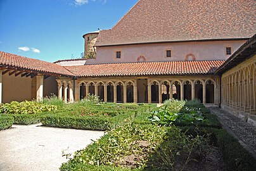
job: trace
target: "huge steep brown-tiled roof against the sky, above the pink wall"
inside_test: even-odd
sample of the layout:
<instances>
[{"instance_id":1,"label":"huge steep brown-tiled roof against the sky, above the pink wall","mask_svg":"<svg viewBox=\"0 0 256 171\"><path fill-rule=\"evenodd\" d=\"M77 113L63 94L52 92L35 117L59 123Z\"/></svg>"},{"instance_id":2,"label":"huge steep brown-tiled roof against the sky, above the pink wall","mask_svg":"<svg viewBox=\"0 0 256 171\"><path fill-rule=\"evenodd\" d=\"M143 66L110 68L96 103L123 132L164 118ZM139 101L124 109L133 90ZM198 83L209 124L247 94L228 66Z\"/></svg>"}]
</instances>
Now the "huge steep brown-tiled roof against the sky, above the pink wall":
<instances>
[{"instance_id":1,"label":"huge steep brown-tiled roof against the sky, above the pink wall","mask_svg":"<svg viewBox=\"0 0 256 171\"><path fill-rule=\"evenodd\" d=\"M140 0L96 46L250 38L255 13L255 0Z\"/></svg>"}]
</instances>

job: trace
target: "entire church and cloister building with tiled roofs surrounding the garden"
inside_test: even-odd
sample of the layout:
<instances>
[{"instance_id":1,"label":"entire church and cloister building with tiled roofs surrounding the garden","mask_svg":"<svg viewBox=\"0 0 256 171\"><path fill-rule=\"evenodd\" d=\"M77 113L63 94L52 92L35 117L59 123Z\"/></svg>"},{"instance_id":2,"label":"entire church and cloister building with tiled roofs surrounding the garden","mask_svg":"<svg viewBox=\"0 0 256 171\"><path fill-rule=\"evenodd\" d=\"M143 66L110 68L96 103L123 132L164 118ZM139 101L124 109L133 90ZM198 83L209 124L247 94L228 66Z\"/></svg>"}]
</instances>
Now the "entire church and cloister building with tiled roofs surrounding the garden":
<instances>
[{"instance_id":1,"label":"entire church and cloister building with tiled roofs surrounding the garden","mask_svg":"<svg viewBox=\"0 0 256 171\"><path fill-rule=\"evenodd\" d=\"M0 52L0 102L200 99L256 125L256 4L139 0L109 30L84 34L89 59L49 63ZM17 86L19 85L19 86Z\"/></svg>"}]
</instances>

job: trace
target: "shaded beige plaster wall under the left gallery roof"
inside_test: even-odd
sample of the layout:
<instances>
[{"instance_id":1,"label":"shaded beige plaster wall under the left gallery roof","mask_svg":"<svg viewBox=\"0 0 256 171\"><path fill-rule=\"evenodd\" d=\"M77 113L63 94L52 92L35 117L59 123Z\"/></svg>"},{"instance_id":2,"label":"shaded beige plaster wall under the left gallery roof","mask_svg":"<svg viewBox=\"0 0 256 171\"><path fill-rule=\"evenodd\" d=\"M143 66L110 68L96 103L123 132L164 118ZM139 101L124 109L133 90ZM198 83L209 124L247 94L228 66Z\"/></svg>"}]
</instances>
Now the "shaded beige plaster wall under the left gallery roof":
<instances>
[{"instance_id":1,"label":"shaded beige plaster wall under the left gallery roof","mask_svg":"<svg viewBox=\"0 0 256 171\"><path fill-rule=\"evenodd\" d=\"M3 75L3 103L32 100L32 79L20 75Z\"/></svg>"}]
</instances>

